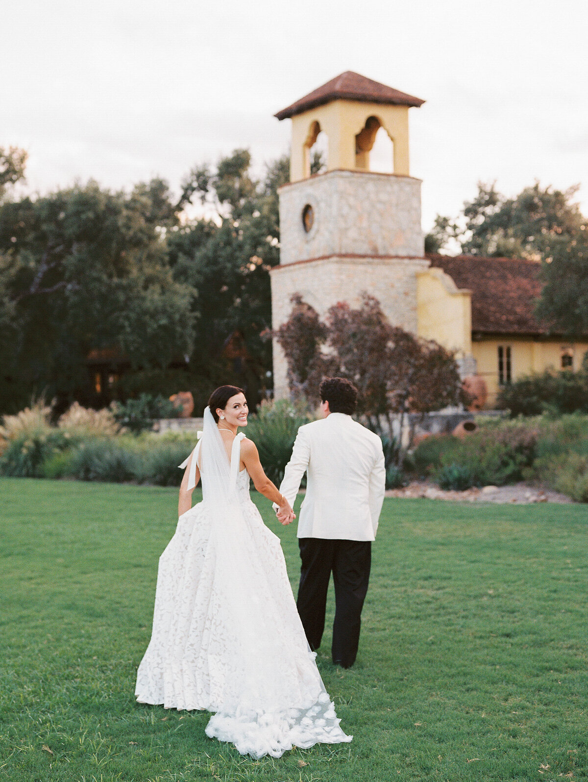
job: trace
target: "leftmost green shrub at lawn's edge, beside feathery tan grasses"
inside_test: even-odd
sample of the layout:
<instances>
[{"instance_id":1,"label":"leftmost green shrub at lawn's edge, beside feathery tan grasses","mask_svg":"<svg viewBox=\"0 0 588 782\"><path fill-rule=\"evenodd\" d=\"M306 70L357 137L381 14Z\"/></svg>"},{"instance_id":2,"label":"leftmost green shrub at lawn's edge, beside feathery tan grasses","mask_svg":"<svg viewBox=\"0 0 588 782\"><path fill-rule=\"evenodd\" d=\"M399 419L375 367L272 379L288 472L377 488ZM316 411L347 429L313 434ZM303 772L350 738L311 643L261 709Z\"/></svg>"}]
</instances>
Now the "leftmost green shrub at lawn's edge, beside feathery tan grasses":
<instances>
[{"instance_id":1,"label":"leftmost green shrub at lawn's edge, beside feathery tan grasses","mask_svg":"<svg viewBox=\"0 0 588 782\"><path fill-rule=\"evenodd\" d=\"M42 428L36 431L23 429L8 442L0 457L0 475L16 478L38 478L43 475L42 465L60 450L71 444L67 432Z\"/></svg>"}]
</instances>

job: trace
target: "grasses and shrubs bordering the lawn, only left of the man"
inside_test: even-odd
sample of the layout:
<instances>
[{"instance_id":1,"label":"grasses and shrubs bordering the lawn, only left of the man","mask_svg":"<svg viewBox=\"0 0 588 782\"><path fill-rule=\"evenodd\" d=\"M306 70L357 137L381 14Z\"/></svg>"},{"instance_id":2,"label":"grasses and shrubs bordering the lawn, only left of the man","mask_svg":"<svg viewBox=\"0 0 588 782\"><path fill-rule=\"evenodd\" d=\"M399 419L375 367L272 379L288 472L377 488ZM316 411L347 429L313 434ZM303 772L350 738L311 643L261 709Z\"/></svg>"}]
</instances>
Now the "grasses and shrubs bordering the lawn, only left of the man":
<instances>
[{"instance_id":1,"label":"grasses and shrubs bordering the lawn, only left of the man","mask_svg":"<svg viewBox=\"0 0 588 782\"><path fill-rule=\"evenodd\" d=\"M51 408L42 403L5 418L0 428L0 475L179 486L182 471L177 465L196 442L195 433L120 433L116 411L74 405L57 425L50 418ZM298 427L310 420L303 407L289 402L262 404L249 419L248 436L277 485Z\"/></svg>"}]
</instances>

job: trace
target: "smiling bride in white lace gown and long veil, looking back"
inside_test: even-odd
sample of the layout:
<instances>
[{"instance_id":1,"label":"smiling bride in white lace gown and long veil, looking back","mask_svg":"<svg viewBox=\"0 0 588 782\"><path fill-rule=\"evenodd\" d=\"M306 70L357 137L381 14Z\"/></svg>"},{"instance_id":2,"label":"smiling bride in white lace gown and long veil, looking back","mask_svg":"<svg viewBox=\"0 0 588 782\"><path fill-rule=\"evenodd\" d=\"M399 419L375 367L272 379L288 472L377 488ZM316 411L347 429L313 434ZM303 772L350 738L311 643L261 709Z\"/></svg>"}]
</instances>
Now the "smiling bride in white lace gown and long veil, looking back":
<instances>
[{"instance_id":1,"label":"smiling bride in white lace gown and long veil, looking back","mask_svg":"<svg viewBox=\"0 0 588 782\"><path fill-rule=\"evenodd\" d=\"M339 726L298 618L280 539L249 497L249 479L288 523L294 513L239 426L248 406L221 386L198 445L180 467L176 533L159 558L153 630L137 701L213 712L206 735L241 755L351 741ZM202 479L202 501L191 508Z\"/></svg>"}]
</instances>

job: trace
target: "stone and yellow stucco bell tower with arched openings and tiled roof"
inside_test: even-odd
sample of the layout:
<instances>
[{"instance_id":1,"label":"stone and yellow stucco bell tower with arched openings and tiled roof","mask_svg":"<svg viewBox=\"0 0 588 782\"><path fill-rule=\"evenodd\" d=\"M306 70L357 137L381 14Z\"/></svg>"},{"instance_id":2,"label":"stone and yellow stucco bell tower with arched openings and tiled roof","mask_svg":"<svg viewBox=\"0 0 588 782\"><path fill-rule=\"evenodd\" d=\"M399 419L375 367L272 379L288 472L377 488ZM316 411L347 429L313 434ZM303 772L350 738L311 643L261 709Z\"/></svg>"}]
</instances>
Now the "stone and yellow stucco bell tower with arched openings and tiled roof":
<instances>
[{"instance_id":1,"label":"stone and yellow stucco bell tower with arched openings and tiled roof","mask_svg":"<svg viewBox=\"0 0 588 782\"><path fill-rule=\"evenodd\" d=\"M417 274L424 257L419 179L409 173L408 109L422 101L346 71L278 112L292 120L290 182L280 188L280 264L271 271L273 328L299 292L320 315L338 301L380 300L390 323L418 331ZM394 173L370 170L383 128ZM319 133L329 142L326 171L310 174ZM274 341L276 399L288 396L286 361Z\"/></svg>"}]
</instances>

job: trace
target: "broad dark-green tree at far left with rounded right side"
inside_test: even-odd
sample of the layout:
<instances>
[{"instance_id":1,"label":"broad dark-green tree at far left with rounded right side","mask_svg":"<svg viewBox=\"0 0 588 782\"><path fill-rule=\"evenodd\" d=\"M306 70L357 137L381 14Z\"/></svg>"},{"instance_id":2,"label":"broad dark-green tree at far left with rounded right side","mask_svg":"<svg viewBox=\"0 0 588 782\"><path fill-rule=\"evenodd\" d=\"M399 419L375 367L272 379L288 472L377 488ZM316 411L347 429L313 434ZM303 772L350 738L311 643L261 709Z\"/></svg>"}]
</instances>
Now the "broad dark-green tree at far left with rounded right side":
<instances>
[{"instance_id":1,"label":"broad dark-green tree at far left with rounded right side","mask_svg":"<svg viewBox=\"0 0 588 782\"><path fill-rule=\"evenodd\" d=\"M32 393L87 401L91 350L159 368L191 350L191 290L162 240L176 219L157 179L128 195L90 181L0 206L2 407Z\"/></svg>"}]
</instances>

